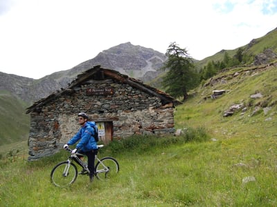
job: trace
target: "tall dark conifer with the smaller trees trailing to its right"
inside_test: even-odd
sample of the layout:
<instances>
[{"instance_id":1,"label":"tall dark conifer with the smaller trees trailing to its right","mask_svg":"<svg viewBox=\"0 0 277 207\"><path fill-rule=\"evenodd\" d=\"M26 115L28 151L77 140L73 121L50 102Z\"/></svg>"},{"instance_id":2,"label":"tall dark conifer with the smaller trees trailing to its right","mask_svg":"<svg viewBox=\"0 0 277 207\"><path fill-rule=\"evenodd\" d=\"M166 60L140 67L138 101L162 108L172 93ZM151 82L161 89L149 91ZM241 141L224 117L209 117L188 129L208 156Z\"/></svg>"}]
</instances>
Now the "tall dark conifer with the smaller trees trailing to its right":
<instances>
[{"instance_id":1,"label":"tall dark conifer with the smaller trees trailing to its right","mask_svg":"<svg viewBox=\"0 0 277 207\"><path fill-rule=\"evenodd\" d=\"M235 55L230 57L224 53L222 61L208 61L206 66L197 70L193 58L190 57L186 48L180 48L176 42L170 43L166 50L166 61L160 70L166 72L163 81L163 88L172 97L188 98L188 91L199 86L224 68L231 68L251 61L250 55L245 55L242 48L238 48Z\"/></svg>"}]
</instances>

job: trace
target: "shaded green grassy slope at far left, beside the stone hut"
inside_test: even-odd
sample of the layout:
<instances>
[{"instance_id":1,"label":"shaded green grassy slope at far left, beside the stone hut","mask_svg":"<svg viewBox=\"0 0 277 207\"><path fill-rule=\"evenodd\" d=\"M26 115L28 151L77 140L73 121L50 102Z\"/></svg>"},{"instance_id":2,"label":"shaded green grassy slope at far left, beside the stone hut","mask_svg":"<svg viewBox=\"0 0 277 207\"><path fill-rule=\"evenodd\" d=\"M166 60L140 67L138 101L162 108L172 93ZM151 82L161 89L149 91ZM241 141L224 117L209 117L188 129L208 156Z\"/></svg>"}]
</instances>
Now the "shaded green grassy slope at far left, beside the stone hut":
<instances>
[{"instance_id":1,"label":"shaded green grassy slope at far left, beside the stone hut","mask_svg":"<svg viewBox=\"0 0 277 207\"><path fill-rule=\"evenodd\" d=\"M25 114L26 103L0 91L0 146L27 140L30 128L29 115Z\"/></svg>"}]
</instances>

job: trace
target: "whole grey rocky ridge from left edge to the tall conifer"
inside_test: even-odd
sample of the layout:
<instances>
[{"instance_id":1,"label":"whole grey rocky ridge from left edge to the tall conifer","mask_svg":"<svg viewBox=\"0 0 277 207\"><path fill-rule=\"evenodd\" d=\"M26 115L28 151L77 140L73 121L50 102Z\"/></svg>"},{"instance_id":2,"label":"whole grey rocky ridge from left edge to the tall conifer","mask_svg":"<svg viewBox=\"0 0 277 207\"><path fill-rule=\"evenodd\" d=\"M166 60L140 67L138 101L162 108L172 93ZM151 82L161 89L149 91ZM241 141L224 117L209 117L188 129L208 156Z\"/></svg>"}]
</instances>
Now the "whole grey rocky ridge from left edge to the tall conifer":
<instances>
[{"instance_id":1,"label":"whole grey rocky ridge from left edge to the tall conifer","mask_svg":"<svg viewBox=\"0 0 277 207\"><path fill-rule=\"evenodd\" d=\"M104 50L93 59L84 61L69 70L54 72L42 79L29 79L1 72L0 90L8 90L19 99L32 103L55 90L66 88L78 74L96 65L147 81L159 75L157 69L162 66L165 59L165 55L161 52L127 42Z\"/></svg>"}]
</instances>

